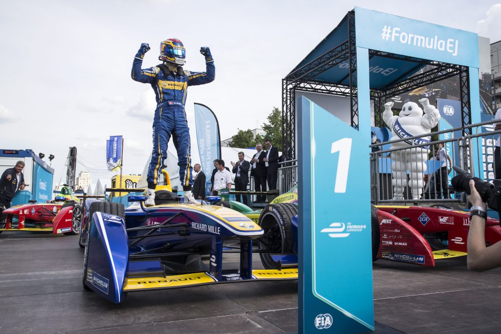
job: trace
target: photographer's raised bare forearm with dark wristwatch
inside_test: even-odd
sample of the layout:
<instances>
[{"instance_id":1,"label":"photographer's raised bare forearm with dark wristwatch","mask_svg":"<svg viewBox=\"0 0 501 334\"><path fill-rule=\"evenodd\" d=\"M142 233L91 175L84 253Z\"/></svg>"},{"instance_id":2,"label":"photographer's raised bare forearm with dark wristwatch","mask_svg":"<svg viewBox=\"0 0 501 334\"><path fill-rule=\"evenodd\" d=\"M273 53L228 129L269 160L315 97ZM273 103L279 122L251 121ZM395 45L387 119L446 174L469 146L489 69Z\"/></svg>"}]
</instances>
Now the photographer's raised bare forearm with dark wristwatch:
<instances>
[{"instance_id":1,"label":"photographer's raised bare forearm with dark wristwatch","mask_svg":"<svg viewBox=\"0 0 501 334\"><path fill-rule=\"evenodd\" d=\"M473 205L470 211L471 225L468 231L468 269L484 271L501 266L501 242L485 246L485 221L487 205L475 189L475 181L469 181L471 194L466 199Z\"/></svg>"}]
</instances>

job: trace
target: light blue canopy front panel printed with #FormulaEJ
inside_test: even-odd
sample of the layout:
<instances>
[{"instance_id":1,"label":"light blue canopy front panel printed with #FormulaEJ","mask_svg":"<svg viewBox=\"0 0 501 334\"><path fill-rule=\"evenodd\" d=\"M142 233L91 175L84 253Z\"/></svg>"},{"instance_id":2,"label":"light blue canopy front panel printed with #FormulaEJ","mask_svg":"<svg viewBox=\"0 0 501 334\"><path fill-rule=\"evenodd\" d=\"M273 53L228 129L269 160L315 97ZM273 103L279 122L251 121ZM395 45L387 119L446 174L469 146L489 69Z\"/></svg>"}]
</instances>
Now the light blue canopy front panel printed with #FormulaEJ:
<instances>
[{"instance_id":1,"label":"light blue canopy front panel printed with #FormulaEJ","mask_svg":"<svg viewBox=\"0 0 501 334\"><path fill-rule=\"evenodd\" d=\"M355 23L357 47L474 68L479 66L478 37L474 33L359 7L355 7Z\"/></svg>"}]
</instances>

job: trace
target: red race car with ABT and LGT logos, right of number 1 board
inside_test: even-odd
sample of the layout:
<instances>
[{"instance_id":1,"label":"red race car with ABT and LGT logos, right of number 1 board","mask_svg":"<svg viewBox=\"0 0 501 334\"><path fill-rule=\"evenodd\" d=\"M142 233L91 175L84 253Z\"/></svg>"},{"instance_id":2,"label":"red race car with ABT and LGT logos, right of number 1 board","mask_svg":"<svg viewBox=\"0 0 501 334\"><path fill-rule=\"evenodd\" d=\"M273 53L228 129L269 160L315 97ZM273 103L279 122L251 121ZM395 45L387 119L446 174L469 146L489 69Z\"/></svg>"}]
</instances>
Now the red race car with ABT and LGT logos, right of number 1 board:
<instances>
[{"instance_id":1,"label":"red race car with ABT and LGT logos, right of number 1 board","mask_svg":"<svg viewBox=\"0 0 501 334\"><path fill-rule=\"evenodd\" d=\"M434 266L435 260L466 255L470 219L458 207L376 206L377 258ZM501 240L499 221L487 218L485 244Z\"/></svg>"}]
</instances>

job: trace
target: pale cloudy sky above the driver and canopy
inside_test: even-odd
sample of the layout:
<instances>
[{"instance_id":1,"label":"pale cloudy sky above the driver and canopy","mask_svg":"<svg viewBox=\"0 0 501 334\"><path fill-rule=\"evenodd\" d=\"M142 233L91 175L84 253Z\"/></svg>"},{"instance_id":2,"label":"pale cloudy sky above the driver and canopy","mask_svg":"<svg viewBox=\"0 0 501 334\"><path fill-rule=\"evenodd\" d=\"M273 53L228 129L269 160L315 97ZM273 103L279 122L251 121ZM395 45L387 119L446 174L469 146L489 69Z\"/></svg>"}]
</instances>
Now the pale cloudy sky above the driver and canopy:
<instances>
[{"instance_id":1,"label":"pale cloudy sky above the driver and canopy","mask_svg":"<svg viewBox=\"0 0 501 334\"><path fill-rule=\"evenodd\" d=\"M201 46L215 59L216 80L188 89L192 143L194 102L216 113L223 139L237 128L254 129L281 107L282 78L355 6L501 40L501 4L482 0L3 0L0 148L54 154L56 184L68 147L76 146L77 173L89 170L93 183L98 177L106 183L113 175L101 172L106 139L123 135L124 173L141 173L151 153L155 99L149 85L131 80L131 65L143 42L151 46L143 67L158 64L167 38L184 43L185 69L205 69Z\"/></svg>"}]
</instances>

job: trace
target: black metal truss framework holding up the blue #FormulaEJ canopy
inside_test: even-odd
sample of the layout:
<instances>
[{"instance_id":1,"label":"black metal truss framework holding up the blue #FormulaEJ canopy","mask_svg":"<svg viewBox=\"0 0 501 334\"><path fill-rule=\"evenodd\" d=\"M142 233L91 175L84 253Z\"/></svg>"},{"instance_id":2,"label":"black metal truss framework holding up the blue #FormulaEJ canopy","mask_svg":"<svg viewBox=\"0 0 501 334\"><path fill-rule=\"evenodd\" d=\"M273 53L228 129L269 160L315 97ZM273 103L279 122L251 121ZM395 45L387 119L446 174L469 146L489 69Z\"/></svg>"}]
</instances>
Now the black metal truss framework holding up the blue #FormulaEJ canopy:
<instances>
[{"instance_id":1,"label":"black metal truss framework holding up the blue #FormulaEJ canopy","mask_svg":"<svg viewBox=\"0 0 501 334\"><path fill-rule=\"evenodd\" d=\"M339 26L348 21L346 40L329 51L318 56L307 64L291 72L282 80L282 151L290 152L288 160L296 159L296 91L323 93L350 98L351 126L358 129L358 96L357 96L357 54L355 36L355 12L351 11L341 21ZM338 27L339 27L338 26ZM471 108L469 99L468 68L459 65L440 63L417 59L408 56L396 55L377 50L369 50L369 59L384 57L400 61L416 63L399 78L386 87L371 89L371 100L374 100L376 120L381 119L383 105L391 97L424 87L432 83L458 76L460 81L460 102L463 121L463 134L469 134L465 125L471 123ZM349 73L337 83L318 81L315 78L335 66L347 62ZM424 65L431 65L431 69L418 72ZM418 73L416 73L418 72ZM416 73L416 74L414 74ZM413 75L414 74L414 75ZM409 77L410 76L410 77ZM348 80L349 79L349 80ZM345 82L348 80L348 82ZM343 84L345 83L345 84ZM379 117L377 117L379 116ZM376 124L378 125L378 124ZM381 124L379 124L381 126Z\"/></svg>"}]
</instances>

